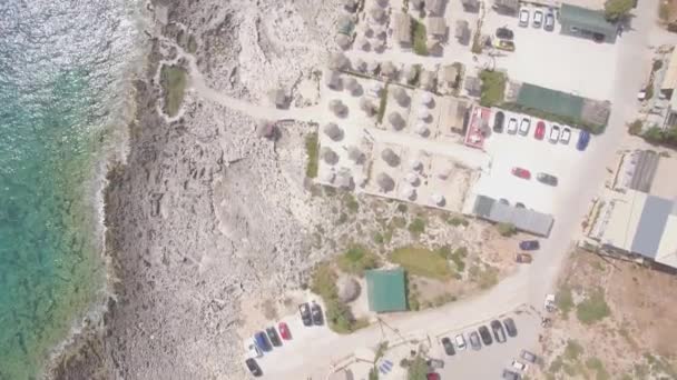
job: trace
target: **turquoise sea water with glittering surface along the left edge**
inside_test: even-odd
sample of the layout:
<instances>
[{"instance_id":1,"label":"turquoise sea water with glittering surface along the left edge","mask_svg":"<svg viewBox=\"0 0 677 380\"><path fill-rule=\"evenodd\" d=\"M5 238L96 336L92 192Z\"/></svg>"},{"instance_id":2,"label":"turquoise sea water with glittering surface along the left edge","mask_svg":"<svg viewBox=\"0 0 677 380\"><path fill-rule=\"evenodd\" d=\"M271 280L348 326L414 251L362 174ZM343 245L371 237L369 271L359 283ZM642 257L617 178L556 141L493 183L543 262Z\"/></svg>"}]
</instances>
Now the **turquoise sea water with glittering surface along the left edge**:
<instances>
[{"instance_id":1,"label":"turquoise sea water with glittering surface along the left edge","mask_svg":"<svg viewBox=\"0 0 677 380\"><path fill-rule=\"evenodd\" d=\"M0 1L0 379L39 376L104 296L104 151L139 53L133 0Z\"/></svg>"}]
</instances>

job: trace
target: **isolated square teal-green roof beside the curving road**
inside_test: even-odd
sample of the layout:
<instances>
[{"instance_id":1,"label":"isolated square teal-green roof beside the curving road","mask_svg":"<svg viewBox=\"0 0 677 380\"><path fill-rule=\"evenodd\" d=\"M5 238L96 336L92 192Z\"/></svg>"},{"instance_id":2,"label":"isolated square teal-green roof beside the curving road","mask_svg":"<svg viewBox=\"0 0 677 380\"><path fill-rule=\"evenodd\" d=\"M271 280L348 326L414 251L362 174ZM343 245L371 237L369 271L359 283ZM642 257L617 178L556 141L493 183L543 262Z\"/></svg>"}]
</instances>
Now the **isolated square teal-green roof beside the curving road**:
<instances>
[{"instance_id":1,"label":"isolated square teal-green roof beside the curving road","mask_svg":"<svg viewBox=\"0 0 677 380\"><path fill-rule=\"evenodd\" d=\"M375 312L406 310L406 289L404 269L367 270L366 291L369 309Z\"/></svg>"}]
</instances>

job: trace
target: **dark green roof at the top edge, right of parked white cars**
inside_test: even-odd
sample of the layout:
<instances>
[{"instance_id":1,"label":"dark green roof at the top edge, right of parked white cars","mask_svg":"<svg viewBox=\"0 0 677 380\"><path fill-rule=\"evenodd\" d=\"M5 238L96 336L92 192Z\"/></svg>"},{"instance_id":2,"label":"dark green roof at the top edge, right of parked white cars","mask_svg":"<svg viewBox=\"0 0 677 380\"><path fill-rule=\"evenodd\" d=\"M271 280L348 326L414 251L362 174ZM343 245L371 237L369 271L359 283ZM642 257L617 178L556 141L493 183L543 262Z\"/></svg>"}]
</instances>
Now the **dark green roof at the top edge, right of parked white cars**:
<instances>
[{"instance_id":1,"label":"dark green roof at the top edge, right of parked white cars","mask_svg":"<svg viewBox=\"0 0 677 380\"><path fill-rule=\"evenodd\" d=\"M618 26L607 21L601 10L562 3L559 10L561 33L600 42L616 42Z\"/></svg>"}]
</instances>

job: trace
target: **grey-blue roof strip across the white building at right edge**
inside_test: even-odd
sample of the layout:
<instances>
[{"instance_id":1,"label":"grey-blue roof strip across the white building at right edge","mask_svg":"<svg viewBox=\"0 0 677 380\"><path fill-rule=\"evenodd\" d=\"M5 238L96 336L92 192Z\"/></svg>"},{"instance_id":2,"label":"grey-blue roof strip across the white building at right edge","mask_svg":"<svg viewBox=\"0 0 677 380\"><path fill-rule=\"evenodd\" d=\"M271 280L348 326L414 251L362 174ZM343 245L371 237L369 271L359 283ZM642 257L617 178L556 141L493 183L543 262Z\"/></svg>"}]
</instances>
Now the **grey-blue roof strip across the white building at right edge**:
<instances>
[{"instance_id":1,"label":"grey-blue roof strip across the white building at right edge","mask_svg":"<svg viewBox=\"0 0 677 380\"><path fill-rule=\"evenodd\" d=\"M630 250L654 259L671 211L673 201L654 196L647 197Z\"/></svg>"}]
</instances>

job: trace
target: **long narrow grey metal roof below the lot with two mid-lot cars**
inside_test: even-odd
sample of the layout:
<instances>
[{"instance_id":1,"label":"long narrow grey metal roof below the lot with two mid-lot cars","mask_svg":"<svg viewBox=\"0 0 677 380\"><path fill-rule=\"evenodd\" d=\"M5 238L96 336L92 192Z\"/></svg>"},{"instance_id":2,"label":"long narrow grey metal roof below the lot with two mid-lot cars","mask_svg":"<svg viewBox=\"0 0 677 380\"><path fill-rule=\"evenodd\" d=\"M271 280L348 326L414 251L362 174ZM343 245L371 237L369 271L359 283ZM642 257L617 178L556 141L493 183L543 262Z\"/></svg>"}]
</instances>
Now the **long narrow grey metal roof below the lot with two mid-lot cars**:
<instances>
[{"instance_id":1,"label":"long narrow grey metal roof below the lot with two mid-lot cars","mask_svg":"<svg viewBox=\"0 0 677 380\"><path fill-rule=\"evenodd\" d=\"M473 213L497 223L512 223L518 230L542 237L550 234L555 223L550 214L503 204L485 196L475 198Z\"/></svg>"}]
</instances>

